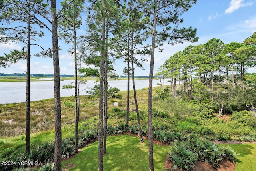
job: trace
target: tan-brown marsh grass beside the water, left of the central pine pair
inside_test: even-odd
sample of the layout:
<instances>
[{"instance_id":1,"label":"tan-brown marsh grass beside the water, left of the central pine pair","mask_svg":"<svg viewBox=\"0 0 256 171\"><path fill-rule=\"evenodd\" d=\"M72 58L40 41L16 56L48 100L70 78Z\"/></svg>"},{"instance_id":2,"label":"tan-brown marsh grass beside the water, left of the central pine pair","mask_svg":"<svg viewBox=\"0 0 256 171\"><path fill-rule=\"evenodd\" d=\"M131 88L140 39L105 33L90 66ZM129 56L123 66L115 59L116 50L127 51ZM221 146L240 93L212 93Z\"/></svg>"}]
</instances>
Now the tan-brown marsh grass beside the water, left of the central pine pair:
<instances>
[{"instance_id":1,"label":"tan-brown marsh grass beside the water, left of the central pine pair","mask_svg":"<svg viewBox=\"0 0 256 171\"><path fill-rule=\"evenodd\" d=\"M73 96L61 97L62 125L74 123L74 109L65 107L65 101L75 101ZM86 105L94 102L93 107L80 107L80 120L98 115L97 99L80 97L80 104ZM26 103L12 103L0 105L0 138L14 137L26 133ZM30 127L31 133L54 129L54 99L32 101L30 103Z\"/></svg>"}]
</instances>

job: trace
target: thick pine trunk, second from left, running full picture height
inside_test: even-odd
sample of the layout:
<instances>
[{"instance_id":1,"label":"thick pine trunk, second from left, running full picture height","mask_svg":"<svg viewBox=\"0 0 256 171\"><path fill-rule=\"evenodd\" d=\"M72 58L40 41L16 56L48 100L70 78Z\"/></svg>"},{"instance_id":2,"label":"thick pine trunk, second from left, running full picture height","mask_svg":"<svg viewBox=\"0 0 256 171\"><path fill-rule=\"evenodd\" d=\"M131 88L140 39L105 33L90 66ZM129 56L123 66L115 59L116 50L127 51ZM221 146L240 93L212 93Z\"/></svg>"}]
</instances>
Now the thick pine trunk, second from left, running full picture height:
<instances>
[{"instance_id":1,"label":"thick pine trunk, second from left, running full picture height","mask_svg":"<svg viewBox=\"0 0 256 171\"><path fill-rule=\"evenodd\" d=\"M55 149L54 170L61 171L61 104L60 104L60 65L58 48L58 23L56 15L56 0L51 0L52 16L52 50L54 69L54 121L55 121Z\"/></svg>"}]
</instances>

